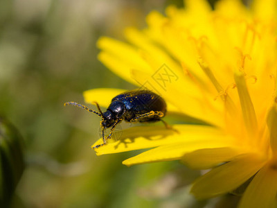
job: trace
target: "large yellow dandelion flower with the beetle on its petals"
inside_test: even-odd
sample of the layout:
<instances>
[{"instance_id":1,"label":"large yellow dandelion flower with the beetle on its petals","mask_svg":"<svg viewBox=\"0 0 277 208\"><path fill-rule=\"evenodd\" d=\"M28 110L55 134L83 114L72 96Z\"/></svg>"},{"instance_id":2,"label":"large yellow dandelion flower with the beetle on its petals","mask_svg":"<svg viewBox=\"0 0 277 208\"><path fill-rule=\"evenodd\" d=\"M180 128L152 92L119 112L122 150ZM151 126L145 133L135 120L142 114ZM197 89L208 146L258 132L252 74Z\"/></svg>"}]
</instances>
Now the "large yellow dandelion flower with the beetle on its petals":
<instances>
[{"instance_id":1,"label":"large yellow dandelion flower with the beetle on its petals","mask_svg":"<svg viewBox=\"0 0 277 208\"><path fill-rule=\"evenodd\" d=\"M277 207L277 44L276 1L204 0L169 6L166 17L151 12L148 28L127 28L127 42L102 37L99 59L134 85L143 85L168 103L168 114L208 125L137 126L97 155L151 148L126 159L131 166L180 159L211 171L191 192L211 198L252 179L240 207ZM91 89L87 103L107 107L123 89ZM105 96L102 96L105 94ZM93 146L102 143L101 139Z\"/></svg>"}]
</instances>

